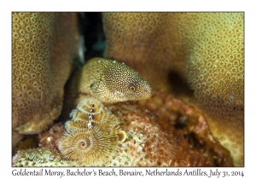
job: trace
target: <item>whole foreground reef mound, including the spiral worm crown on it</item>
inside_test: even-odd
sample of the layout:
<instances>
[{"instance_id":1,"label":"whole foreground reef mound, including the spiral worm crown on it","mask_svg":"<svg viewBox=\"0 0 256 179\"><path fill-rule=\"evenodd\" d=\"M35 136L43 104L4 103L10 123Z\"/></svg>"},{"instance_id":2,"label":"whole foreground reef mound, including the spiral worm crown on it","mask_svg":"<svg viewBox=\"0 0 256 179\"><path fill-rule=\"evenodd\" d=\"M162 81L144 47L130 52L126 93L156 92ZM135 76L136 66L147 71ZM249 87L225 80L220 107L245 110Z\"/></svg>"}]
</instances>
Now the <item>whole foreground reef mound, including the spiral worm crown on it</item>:
<instances>
[{"instance_id":1,"label":"whole foreground reef mound, including the spiral worm crown on it","mask_svg":"<svg viewBox=\"0 0 256 179\"><path fill-rule=\"evenodd\" d=\"M64 135L63 125L55 124L38 136L40 147L21 150L13 165L232 166L229 151L214 140L202 114L165 92L108 107L89 98L73 110L71 118ZM30 153L38 158L58 157L35 162L29 160Z\"/></svg>"}]
</instances>

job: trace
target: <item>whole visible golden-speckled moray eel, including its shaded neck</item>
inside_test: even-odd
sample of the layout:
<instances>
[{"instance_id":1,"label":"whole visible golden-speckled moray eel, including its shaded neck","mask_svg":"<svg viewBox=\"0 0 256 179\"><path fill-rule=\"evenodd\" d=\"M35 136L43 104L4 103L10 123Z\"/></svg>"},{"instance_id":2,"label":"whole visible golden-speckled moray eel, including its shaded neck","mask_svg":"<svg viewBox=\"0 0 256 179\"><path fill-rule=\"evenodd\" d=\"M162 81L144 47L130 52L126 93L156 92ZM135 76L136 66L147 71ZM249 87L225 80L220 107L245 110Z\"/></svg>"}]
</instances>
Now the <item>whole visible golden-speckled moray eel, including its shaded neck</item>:
<instances>
[{"instance_id":1,"label":"whole visible golden-speckled moray eel, including its shaded neck","mask_svg":"<svg viewBox=\"0 0 256 179\"><path fill-rule=\"evenodd\" d=\"M146 100L152 88L131 67L118 61L95 57L73 75L67 84L64 113L92 96L104 104ZM67 118L67 114L63 114Z\"/></svg>"}]
</instances>

